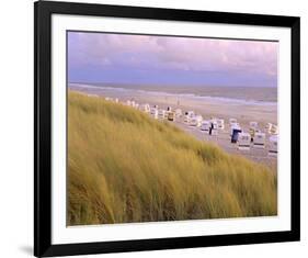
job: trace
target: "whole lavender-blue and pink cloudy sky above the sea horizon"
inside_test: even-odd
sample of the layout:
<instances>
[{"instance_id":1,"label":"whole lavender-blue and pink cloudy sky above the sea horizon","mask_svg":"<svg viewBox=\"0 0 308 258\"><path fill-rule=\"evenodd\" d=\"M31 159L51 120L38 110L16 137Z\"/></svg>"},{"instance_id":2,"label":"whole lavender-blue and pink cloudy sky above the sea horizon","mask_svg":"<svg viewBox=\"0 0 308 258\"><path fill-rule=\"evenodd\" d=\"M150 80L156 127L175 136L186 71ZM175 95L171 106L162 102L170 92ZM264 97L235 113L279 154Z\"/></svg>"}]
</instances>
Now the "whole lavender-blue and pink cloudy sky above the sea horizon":
<instances>
[{"instance_id":1,"label":"whole lavender-blue and pink cloudy sky above the sea horizon","mask_svg":"<svg viewBox=\"0 0 308 258\"><path fill-rule=\"evenodd\" d=\"M277 87L277 42L68 32L69 82Z\"/></svg>"}]
</instances>

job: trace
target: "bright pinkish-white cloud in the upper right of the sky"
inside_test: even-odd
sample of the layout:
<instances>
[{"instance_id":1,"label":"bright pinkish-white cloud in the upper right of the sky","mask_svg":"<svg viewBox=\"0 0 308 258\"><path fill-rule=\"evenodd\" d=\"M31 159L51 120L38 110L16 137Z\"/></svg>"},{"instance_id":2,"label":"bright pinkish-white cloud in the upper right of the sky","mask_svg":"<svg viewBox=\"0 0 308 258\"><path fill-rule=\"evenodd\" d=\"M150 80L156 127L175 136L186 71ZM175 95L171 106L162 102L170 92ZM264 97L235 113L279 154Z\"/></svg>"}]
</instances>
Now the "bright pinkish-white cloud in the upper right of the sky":
<instances>
[{"instance_id":1,"label":"bright pinkish-white cloud in the upper right of the sky","mask_svg":"<svg viewBox=\"0 0 308 258\"><path fill-rule=\"evenodd\" d=\"M277 47L272 42L166 38L159 43L159 58L174 67L191 70L243 70L276 75ZM183 66L181 66L181 64Z\"/></svg>"}]
</instances>

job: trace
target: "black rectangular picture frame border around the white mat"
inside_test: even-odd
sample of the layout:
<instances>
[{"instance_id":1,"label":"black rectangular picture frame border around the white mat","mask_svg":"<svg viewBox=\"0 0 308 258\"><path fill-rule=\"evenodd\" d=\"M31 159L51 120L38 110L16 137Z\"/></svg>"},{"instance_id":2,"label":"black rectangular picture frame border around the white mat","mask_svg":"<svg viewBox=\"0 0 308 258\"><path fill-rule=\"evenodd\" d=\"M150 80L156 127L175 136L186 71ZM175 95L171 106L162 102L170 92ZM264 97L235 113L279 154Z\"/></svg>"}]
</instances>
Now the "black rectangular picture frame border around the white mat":
<instances>
[{"instance_id":1,"label":"black rectangular picture frame border around the white mat","mask_svg":"<svg viewBox=\"0 0 308 258\"><path fill-rule=\"evenodd\" d=\"M155 249L294 242L300 238L300 19L159 8L38 1L34 3L34 255L68 256ZM52 244L52 14L138 18L289 27L292 30L292 229L142 240Z\"/></svg>"}]
</instances>

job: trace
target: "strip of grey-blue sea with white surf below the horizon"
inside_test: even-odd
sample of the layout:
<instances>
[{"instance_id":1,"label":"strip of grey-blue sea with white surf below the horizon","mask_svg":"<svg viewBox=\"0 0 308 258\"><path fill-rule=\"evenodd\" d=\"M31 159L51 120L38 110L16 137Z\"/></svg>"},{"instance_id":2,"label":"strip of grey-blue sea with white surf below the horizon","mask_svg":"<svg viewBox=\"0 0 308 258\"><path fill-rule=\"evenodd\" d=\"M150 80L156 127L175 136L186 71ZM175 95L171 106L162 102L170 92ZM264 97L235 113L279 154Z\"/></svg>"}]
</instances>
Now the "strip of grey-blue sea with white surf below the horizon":
<instances>
[{"instance_id":1,"label":"strip of grey-blue sea with white surf below the horizon","mask_svg":"<svg viewBox=\"0 0 308 258\"><path fill-rule=\"evenodd\" d=\"M70 89L88 93L113 96L164 96L182 97L196 100L219 100L235 103L250 104L277 104L276 87L226 87L226 86L156 86L156 85L128 85L128 83L84 83L70 82Z\"/></svg>"}]
</instances>

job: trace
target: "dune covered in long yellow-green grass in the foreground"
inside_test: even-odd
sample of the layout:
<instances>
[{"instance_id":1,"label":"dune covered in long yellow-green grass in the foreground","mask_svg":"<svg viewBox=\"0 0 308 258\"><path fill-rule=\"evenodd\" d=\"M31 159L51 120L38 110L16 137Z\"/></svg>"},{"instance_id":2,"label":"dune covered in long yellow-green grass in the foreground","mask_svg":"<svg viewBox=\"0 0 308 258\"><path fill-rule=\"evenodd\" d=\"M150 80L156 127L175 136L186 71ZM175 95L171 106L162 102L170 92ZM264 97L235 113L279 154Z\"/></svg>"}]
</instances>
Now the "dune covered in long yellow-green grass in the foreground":
<instances>
[{"instance_id":1,"label":"dune covered in long yellow-green grass in the foreground","mask_svg":"<svg viewBox=\"0 0 308 258\"><path fill-rule=\"evenodd\" d=\"M275 215L276 173L129 106L68 96L68 225Z\"/></svg>"}]
</instances>

